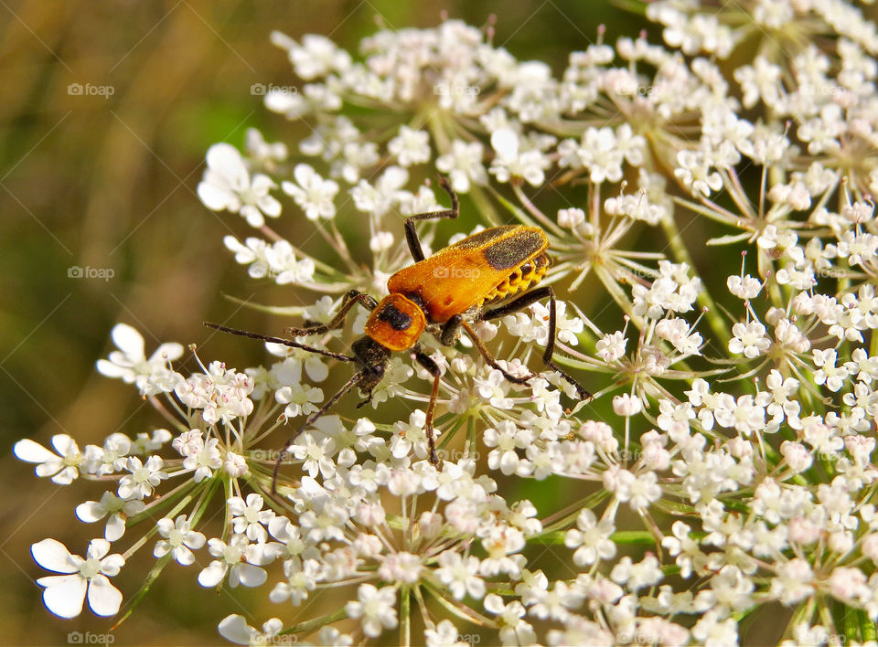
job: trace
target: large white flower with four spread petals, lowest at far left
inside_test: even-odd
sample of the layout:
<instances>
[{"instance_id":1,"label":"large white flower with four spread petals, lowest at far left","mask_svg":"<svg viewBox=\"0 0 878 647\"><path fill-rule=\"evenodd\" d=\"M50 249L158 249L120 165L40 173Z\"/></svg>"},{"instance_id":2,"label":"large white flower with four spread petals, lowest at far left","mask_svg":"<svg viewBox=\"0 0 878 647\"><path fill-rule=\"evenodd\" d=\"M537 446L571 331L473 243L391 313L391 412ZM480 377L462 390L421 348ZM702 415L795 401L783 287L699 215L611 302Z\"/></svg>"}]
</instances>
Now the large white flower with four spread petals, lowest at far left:
<instances>
[{"instance_id":1,"label":"large white flower with four spread petals, lowest at far left","mask_svg":"<svg viewBox=\"0 0 878 647\"><path fill-rule=\"evenodd\" d=\"M112 616L119 611L122 593L108 578L119 573L125 560L119 554L107 555L110 542L106 539L92 539L85 558L71 555L67 547L55 539L37 542L30 547L30 552L41 567L64 573L37 579L37 584L46 588L43 602L55 615L76 618L86 597L91 610L99 616Z\"/></svg>"}]
</instances>

